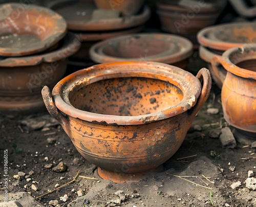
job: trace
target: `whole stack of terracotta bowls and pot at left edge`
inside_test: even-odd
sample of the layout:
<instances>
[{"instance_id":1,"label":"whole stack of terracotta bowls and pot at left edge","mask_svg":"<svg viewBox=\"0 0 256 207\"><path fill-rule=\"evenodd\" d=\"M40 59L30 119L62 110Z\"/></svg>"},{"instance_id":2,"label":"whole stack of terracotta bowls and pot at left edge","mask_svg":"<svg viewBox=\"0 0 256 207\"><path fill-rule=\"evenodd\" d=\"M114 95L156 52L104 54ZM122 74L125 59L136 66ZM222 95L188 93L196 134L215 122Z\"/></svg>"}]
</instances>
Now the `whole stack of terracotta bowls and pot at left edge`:
<instances>
[{"instance_id":1,"label":"whole stack of terracotta bowls and pot at left edge","mask_svg":"<svg viewBox=\"0 0 256 207\"><path fill-rule=\"evenodd\" d=\"M40 90L62 78L80 42L48 8L4 4L0 11L0 111L43 107Z\"/></svg>"}]
</instances>

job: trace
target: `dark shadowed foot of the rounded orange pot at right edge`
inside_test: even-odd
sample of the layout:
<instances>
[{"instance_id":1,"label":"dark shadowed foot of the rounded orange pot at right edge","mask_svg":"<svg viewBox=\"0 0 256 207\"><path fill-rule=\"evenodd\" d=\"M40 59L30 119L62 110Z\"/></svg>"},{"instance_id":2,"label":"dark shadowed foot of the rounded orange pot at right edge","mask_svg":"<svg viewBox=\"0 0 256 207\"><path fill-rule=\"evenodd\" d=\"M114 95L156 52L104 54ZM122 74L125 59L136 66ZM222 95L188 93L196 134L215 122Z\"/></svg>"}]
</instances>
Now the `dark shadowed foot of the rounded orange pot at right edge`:
<instances>
[{"instance_id":1,"label":"dark shadowed foot of the rounded orange pot at right edge","mask_svg":"<svg viewBox=\"0 0 256 207\"><path fill-rule=\"evenodd\" d=\"M244 130L239 130L238 128L234 128L232 133L237 142L241 144L250 145L252 142L256 141L255 132L247 132Z\"/></svg>"}]
</instances>

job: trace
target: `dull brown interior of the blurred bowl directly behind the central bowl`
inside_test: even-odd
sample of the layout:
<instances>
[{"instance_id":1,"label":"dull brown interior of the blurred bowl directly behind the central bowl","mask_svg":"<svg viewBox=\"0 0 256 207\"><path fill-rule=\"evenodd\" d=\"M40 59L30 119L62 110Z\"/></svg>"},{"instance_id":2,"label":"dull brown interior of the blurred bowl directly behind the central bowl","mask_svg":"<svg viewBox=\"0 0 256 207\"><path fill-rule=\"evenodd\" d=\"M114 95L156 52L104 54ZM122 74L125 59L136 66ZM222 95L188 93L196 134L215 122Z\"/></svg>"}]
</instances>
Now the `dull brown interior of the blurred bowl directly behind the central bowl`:
<instances>
[{"instance_id":1,"label":"dull brown interior of the blurred bowl directly behind the central bowl","mask_svg":"<svg viewBox=\"0 0 256 207\"><path fill-rule=\"evenodd\" d=\"M102 48L102 53L118 58L141 58L143 61L147 57L168 51L172 45L167 41L133 36L119 41L109 41L109 45Z\"/></svg>"}]
</instances>

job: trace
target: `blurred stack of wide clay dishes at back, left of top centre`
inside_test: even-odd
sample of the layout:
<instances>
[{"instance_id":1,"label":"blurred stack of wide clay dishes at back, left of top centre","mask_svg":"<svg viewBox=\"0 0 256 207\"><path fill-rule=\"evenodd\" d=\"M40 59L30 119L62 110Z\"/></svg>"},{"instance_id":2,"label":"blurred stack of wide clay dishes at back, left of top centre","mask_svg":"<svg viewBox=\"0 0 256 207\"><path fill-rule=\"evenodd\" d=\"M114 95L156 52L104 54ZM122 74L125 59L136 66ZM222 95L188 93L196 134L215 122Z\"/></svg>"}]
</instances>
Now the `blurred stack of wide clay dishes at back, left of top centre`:
<instances>
[{"instance_id":1,"label":"blurred stack of wide clay dishes at back, left of top centre","mask_svg":"<svg viewBox=\"0 0 256 207\"><path fill-rule=\"evenodd\" d=\"M150 9L146 5L143 6L142 2L141 8L129 15L119 11L116 4L113 5L115 7L113 9L106 5L100 6L99 2L97 1L96 5L89 1L66 0L49 5L66 19L69 31L74 32L82 42L81 49L72 56L74 60L87 60L89 48L97 41L140 32L144 23L150 18ZM109 1L106 2L109 4Z\"/></svg>"}]
</instances>

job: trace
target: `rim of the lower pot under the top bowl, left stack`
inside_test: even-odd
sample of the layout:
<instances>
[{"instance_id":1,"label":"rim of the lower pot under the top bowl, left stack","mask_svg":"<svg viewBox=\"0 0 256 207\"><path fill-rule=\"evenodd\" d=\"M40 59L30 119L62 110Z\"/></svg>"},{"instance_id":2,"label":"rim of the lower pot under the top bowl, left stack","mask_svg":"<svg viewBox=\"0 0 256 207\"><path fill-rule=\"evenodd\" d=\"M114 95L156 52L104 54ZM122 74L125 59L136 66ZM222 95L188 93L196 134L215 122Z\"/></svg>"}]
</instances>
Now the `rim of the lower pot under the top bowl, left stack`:
<instances>
[{"instance_id":1,"label":"rim of the lower pot under the top bowl, left stack","mask_svg":"<svg viewBox=\"0 0 256 207\"><path fill-rule=\"evenodd\" d=\"M41 54L41 55L32 55L27 57L15 57L15 58L6 58L4 60L0 60L0 67L23 67L23 66L34 66L39 65L41 63L50 63L53 61L58 61L61 59L66 59L76 51L79 50L81 43L75 37L74 34L68 32L68 34L63 38L63 45L49 53Z\"/></svg>"}]
</instances>

